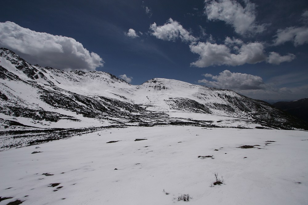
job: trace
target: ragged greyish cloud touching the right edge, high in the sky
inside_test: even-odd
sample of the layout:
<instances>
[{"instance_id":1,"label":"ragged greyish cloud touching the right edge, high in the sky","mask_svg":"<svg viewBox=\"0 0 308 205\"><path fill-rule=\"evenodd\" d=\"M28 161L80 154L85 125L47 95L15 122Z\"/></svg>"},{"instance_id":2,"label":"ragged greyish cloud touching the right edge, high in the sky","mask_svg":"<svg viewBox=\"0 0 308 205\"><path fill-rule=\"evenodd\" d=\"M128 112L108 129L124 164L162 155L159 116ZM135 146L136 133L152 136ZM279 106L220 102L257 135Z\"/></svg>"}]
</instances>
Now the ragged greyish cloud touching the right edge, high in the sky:
<instances>
[{"instance_id":1,"label":"ragged greyish cloud touching the right edge, high in the sky","mask_svg":"<svg viewBox=\"0 0 308 205\"><path fill-rule=\"evenodd\" d=\"M308 27L288 27L285 29L278 29L275 35L274 45L280 45L288 41L292 41L294 46L308 43Z\"/></svg>"}]
</instances>

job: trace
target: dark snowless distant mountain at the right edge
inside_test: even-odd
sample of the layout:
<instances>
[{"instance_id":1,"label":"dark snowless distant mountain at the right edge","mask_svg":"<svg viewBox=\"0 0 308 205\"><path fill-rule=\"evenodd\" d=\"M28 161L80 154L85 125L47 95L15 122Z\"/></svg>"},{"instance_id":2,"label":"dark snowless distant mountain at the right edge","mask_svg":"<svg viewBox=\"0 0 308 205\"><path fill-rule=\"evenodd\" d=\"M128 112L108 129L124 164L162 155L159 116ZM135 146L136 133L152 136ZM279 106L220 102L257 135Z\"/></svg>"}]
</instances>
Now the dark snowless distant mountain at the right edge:
<instances>
[{"instance_id":1,"label":"dark snowless distant mountain at the right edge","mask_svg":"<svg viewBox=\"0 0 308 205\"><path fill-rule=\"evenodd\" d=\"M308 98L290 102L276 102L273 106L308 122Z\"/></svg>"}]
</instances>

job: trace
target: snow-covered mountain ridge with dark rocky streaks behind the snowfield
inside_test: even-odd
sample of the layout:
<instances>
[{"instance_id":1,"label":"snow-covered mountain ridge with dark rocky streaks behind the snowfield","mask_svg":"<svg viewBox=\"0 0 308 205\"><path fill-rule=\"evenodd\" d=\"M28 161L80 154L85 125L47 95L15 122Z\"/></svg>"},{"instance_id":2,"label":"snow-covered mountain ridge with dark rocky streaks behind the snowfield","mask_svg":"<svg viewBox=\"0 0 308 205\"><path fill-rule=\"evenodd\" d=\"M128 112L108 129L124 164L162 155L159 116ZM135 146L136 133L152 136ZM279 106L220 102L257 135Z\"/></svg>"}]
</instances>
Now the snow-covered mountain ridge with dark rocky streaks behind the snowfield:
<instances>
[{"instance_id":1,"label":"snow-covered mountain ridge with dark rocky streaks behind the snowfield","mask_svg":"<svg viewBox=\"0 0 308 205\"><path fill-rule=\"evenodd\" d=\"M164 78L135 86L101 71L31 65L6 48L0 49L0 78L2 148L117 126L306 129L270 104L232 90ZM12 137L18 139L13 144Z\"/></svg>"}]
</instances>

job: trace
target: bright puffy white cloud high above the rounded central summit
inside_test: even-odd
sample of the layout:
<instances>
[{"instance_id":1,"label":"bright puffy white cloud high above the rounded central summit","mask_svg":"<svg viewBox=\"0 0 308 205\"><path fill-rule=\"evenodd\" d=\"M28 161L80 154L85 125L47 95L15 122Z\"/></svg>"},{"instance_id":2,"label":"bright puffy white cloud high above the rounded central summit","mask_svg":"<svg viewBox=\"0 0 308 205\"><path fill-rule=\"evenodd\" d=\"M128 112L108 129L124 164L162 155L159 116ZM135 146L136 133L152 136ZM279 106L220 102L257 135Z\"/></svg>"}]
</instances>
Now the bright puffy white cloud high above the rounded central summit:
<instances>
[{"instance_id":1,"label":"bright puffy white cloud high above the rounded central summit","mask_svg":"<svg viewBox=\"0 0 308 205\"><path fill-rule=\"evenodd\" d=\"M163 26L157 26L154 22L150 26L150 30L152 30L151 34L153 36L165 41L175 41L178 38L183 42L193 42L197 40L197 38L193 37L193 35L185 30L177 21L173 21L172 18L169 18Z\"/></svg>"}]
</instances>

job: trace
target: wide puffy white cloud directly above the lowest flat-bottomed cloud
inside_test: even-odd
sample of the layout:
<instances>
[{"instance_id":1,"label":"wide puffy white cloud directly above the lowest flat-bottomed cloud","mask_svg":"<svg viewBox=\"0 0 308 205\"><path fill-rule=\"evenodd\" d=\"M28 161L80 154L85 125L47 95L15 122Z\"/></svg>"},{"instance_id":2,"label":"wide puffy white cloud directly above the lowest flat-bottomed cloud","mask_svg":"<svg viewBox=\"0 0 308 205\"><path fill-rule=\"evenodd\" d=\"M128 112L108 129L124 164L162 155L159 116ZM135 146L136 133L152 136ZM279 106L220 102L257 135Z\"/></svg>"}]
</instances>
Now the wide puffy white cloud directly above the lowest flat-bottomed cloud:
<instances>
[{"instance_id":1,"label":"wide puffy white cloud directly above the lowest flat-bottomed cloud","mask_svg":"<svg viewBox=\"0 0 308 205\"><path fill-rule=\"evenodd\" d=\"M196 62L191 63L191 65L197 67L214 65L239 66L245 63L255 64L266 59L264 46L261 42L250 42L247 44L241 42L240 47L233 45L238 42L241 41L238 39L233 41L230 38L226 38L226 45L218 45L210 42L192 43L189 46L191 52L199 54L200 57ZM232 50L236 53L232 53Z\"/></svg>"}]
</instances>

